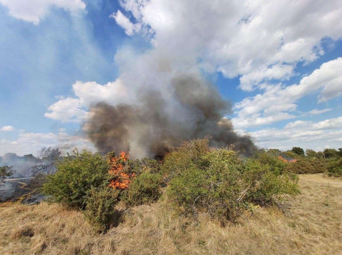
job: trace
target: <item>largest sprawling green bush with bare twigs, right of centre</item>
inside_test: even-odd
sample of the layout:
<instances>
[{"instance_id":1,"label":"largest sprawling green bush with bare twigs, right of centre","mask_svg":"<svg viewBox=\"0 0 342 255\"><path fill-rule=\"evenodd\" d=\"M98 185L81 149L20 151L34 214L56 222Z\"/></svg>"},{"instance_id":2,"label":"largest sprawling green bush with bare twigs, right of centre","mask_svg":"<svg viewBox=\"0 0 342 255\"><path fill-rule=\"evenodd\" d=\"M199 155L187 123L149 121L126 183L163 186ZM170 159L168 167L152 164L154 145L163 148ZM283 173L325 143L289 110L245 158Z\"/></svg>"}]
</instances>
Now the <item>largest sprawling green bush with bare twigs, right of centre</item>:
<instances>
[{"instance_id":1,"label":"largest sprawling green bush with bare twigs, right of centre","mask_svg":"<svg viewBox=\"0 0 342 255\"><path fill-rule=\"evenodd\" d=\"M203 146L207 144L207 147ZM198 154L192 154L200 145ZM186 150L186 148L193 150ZM191 155L188 155L191 154ZM271 204L282 195L298 193L289 178L276 176L271 166L242 158L232 148L214 149L206 140L183 143L165 158L164 164L177 168L167 187L170 202L184 213L205 212L212 217L234 220L248 204Z\"/></svg>"}]
</instances>

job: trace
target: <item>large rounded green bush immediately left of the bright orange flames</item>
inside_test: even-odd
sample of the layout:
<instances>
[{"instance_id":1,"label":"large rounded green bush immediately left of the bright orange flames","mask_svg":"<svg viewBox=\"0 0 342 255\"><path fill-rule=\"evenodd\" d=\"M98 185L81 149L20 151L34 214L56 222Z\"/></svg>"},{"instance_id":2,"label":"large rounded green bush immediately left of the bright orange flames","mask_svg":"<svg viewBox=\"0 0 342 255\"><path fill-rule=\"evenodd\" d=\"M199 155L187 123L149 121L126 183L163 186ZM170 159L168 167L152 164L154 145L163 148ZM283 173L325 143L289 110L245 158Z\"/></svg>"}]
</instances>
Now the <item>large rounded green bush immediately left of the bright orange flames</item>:
<instances>
[{"instance_id":1,"label":"large rounded green bush immediately left of the bright orange flames","mask_svg":"<svg viewBox=\"0 0 342 255\"><path fill-rule=\"evenodd\" d=\"M106 185L109 180L109 163L100 154L90 151L79 153L56 161L58 171L48 175L42 193L53 202L84 208L92 188Z\"/></svg>"}]
</instances>

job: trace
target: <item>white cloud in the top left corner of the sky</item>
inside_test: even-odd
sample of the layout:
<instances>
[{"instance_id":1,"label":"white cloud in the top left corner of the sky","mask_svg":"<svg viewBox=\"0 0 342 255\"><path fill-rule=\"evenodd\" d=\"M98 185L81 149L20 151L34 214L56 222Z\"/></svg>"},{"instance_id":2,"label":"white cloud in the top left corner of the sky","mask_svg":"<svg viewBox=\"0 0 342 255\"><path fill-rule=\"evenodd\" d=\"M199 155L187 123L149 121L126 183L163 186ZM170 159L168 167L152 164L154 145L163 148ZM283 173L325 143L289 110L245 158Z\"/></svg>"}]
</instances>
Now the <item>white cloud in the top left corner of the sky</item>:
<instances>
[{"instance_id":1,"label":"white cloud in the top left corner of the sky","mask_svg":"<svg viewBox=\"0 0 342 255\"><path fill-rule=\"evenodd\" d=\"M8 7L13 17L35 25L50 12L52 7L63 8L72 13L86 8L82 0L0 0L0 3Z\"/></svg>"}]
</instances>

